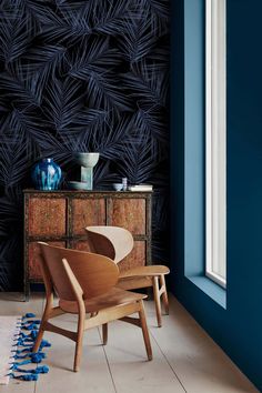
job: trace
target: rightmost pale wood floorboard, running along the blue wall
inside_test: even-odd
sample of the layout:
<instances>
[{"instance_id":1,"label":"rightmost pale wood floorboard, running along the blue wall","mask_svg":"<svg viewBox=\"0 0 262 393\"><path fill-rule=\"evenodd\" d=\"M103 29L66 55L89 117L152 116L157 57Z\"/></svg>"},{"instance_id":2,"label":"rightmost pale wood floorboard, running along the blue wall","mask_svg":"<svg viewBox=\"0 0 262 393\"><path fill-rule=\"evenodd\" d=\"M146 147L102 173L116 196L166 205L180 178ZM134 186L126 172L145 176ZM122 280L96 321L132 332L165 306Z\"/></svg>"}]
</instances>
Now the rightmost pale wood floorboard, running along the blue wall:
<instances>
[{"instance_id":1,"label":"rightmost pale wood floorboard, running along the blue wall","mask_svg":"<svg viewBox=\"0 0 262 393\"><path fill-rule=\"evenodd\" d=\"M240 372L184 308L171 296L171 312L161 329L151 329L163 355L187 392L254 393L258 390ZM153 314L153 304L148 304Z\"/></svg>"}]
</instances>

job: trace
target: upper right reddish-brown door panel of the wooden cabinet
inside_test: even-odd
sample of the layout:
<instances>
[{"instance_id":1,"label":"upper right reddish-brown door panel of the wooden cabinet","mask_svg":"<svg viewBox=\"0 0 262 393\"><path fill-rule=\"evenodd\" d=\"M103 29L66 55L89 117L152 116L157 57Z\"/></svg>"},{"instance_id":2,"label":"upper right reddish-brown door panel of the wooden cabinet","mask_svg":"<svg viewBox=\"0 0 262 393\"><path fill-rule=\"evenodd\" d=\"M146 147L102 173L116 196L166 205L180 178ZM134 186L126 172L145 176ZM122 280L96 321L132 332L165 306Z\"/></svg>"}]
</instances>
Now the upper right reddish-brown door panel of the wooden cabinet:
<instances>
[{"instance_id":1,"label":"upper right reddish-brown door panel of the wooden cabinet","mask_svg":"<svg viewBox=\"0 0 262 393\"><path fill-rule=\"evenodd\" d=\"M122 226L132 234L145 234L145 199L112 199L111 225Z\"/></svg>"}]
</instances>

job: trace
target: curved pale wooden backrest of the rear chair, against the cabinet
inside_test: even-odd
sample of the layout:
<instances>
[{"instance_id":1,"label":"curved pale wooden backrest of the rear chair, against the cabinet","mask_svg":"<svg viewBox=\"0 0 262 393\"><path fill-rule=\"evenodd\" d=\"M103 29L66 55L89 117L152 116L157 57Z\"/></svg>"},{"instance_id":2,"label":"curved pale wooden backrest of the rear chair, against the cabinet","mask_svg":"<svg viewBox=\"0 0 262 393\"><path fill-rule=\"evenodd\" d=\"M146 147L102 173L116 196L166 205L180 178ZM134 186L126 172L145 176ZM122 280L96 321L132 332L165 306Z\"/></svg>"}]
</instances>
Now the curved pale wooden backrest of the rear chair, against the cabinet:
<instances>
[{"instance_id":1,"label":"curved pale wooden backrest of the rear chair, against the cabinet","mask_svg":"<svg viewBox=\"0 0 262 393\"><path fill-rule=\"evenodd\" d=\"M115 263L122 261L133 249L133 236L120 226L87 226L92 252L105 255Z\"/></svg>"}]
</instances>

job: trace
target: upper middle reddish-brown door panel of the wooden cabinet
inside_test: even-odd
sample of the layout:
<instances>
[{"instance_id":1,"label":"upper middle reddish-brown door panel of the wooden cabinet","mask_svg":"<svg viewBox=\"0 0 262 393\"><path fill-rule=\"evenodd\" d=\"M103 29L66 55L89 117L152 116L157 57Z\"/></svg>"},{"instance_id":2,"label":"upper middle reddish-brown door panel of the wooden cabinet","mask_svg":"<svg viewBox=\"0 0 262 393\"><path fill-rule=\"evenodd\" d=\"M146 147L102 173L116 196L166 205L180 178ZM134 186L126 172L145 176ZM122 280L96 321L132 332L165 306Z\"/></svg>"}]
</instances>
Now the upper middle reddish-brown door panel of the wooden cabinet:
<instances>
[{"instance_id":1,"label":"upper middle reddish-brown door panel of the wooden cabinet","mask_svg":"<svg viewBox=\"0 0 262 393\"><path fill-rule=\"evenodd\" d=\"M105 200L73 199L72 200L72 234L85 234L88 225L105 225Z\"/></svg>"}]
</instances>

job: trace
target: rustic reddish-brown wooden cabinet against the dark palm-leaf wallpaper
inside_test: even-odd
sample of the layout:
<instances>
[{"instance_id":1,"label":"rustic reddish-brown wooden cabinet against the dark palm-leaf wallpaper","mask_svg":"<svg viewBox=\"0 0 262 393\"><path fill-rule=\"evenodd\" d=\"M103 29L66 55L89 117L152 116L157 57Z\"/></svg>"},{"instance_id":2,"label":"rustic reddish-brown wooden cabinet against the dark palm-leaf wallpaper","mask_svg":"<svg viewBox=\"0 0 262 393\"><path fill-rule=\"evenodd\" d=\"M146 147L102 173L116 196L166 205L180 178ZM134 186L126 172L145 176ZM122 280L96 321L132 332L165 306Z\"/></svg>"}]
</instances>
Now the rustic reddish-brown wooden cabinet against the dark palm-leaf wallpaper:
<instances>
[{"instance_id":1,"label":"rustic reddish-brown wooden cabinet against the dark palm-leaf wallpaper","mask_svg":"<svg viewBox=\"0 0 262 393\"><path fill-rule=\"evenodd\" d=\"M121 270L151 264L151 192L24 190L24 291L41 282L37 242L89 251L84 228L128 229L134 248Z\"/></svg>"}]
</instances>

